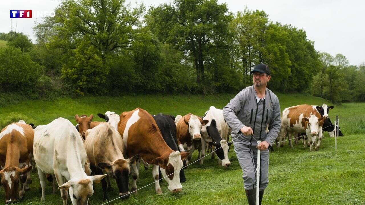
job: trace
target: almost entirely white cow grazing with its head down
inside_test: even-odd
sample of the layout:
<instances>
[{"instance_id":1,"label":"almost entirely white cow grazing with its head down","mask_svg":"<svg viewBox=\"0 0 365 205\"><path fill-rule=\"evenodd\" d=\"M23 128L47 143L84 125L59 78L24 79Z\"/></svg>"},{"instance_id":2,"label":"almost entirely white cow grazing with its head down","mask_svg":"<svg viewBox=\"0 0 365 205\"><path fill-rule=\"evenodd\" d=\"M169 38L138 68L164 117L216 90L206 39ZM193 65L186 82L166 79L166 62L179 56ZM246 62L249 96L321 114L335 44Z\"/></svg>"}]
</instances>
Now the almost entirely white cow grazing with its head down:
<instances>
[{"instance_id":1,"label":"almost entirely white cow grazing with its head down","mask_svg":"<svg viewBox=\"0 0 365 205\"><path fill-rule=\"evenodd\" d=\"M64 205L68 190L72 204L87 205L94 193L93 182L99 183L106 176L85 173L84 142L72 123L62 117L35 129L33 150L42 187L41 201L45 200L45 173L55 176Z\"/></svg>"}]
</instances>

